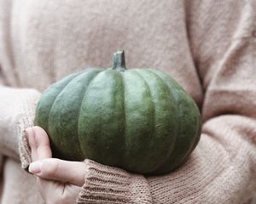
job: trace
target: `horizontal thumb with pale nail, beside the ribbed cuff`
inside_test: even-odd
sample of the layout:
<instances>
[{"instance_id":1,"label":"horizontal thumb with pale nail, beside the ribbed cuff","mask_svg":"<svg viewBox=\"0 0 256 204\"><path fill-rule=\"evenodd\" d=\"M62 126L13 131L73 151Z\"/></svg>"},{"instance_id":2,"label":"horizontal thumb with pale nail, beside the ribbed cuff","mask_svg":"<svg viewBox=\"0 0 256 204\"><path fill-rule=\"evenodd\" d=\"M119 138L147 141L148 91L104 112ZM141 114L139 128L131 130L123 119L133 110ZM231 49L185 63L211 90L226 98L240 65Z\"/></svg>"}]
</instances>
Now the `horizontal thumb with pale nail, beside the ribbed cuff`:
<instances>
[{"instance_id":1,"label":"horizontal thumb with pale nail, beside the ribbed cuff","mask_svg":"<svg viewBox=\"0 0 256 204\"><path fill-rule=\"evenodd\" d=\"M28 171L40 178L83 186L86 165L83 161L49 158L32 162Z\"/></svg>"}]
</instances>

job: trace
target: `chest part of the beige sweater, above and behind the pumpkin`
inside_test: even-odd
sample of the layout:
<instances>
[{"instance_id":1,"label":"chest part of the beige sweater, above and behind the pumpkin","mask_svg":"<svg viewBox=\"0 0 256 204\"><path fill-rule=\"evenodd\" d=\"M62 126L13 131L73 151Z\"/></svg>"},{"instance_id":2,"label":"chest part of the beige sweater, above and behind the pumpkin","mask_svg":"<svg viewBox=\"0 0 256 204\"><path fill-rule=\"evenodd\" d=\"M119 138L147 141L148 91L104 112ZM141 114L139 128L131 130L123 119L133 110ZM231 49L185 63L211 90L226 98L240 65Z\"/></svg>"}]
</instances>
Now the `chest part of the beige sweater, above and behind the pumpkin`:
<instances>
[{"instance_id":1,"label":"chest part of the beige sweater, above and behind the pumpkin","mask_svg":"<svg viewBox=\"0 0 256 204\"><path fill-rule=\"evenodd\" d=\"M124 49L128 68L166 71L200 103L183 1L14 1L2 3L4 81L37 88L87 67L108 67ZM10 16L7 10L15 15ZM9 11L10 12L10 11ZM11 26L11 27L9 27Z\"/></svg>"}]
</instances>

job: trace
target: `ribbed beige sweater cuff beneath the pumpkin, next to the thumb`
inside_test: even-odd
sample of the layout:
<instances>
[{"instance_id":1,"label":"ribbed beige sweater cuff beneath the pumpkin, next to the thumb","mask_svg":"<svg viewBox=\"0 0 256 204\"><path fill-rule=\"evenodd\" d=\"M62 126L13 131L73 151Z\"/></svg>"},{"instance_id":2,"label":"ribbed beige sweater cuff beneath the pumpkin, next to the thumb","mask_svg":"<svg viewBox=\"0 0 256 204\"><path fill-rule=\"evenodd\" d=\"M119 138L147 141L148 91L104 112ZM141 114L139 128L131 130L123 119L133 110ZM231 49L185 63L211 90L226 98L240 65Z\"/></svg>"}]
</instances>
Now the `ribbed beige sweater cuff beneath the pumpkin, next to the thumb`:
<instances>
[{"instance_id":1,"label":"ribbed beige sweater cuff beneath the pumpkin, next to the thumb","mask_svg":"<svg viewBox=\"0 0 256 204\"><path fill-rule=\"evenodd\" d=\"M84 162L84 185L76 203L152 203L148 182L142 175L88 159Z\"/></svg>"}]
</instances>

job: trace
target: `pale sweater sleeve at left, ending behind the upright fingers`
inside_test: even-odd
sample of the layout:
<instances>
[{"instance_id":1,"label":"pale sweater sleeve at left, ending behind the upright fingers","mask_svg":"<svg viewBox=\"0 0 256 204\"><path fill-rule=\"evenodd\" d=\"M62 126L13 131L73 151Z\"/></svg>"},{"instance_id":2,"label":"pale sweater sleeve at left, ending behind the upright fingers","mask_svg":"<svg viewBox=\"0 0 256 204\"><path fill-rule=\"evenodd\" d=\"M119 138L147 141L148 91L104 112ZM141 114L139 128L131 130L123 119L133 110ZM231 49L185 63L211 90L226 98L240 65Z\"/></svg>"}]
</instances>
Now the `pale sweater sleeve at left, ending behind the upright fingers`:
<instances>
[{"instance_id":1,"label":"pale sweater sleeve at left, ending behind the upright fingers","mask_svg":"<svg viewBox=\"0 0 256 204\"><path fill-rule=\"evenodd\" d=\"M32 88L0 86L0 152L20 160L23 168L31 161L24 130L33 126L39 98Z\"/></svg>"}]
</instances>

